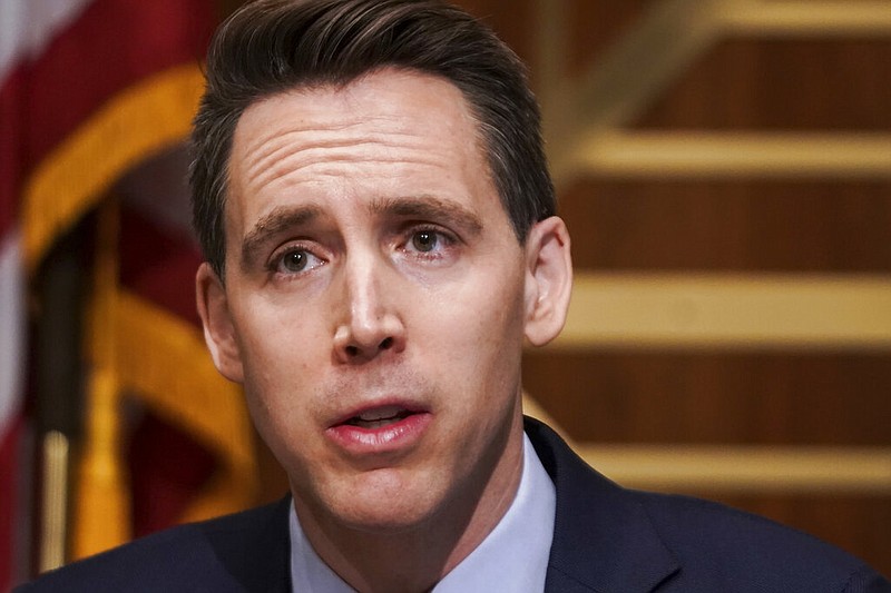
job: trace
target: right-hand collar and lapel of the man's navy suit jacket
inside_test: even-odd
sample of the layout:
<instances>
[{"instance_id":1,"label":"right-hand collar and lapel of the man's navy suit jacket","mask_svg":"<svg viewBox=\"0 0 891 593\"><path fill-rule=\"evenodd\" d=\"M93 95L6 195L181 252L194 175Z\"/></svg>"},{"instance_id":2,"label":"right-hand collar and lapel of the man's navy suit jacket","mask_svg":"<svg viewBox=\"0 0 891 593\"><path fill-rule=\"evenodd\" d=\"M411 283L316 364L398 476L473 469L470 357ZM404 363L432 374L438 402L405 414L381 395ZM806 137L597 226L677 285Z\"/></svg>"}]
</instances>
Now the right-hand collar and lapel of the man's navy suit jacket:
<instances>
[{"instance_id":1,"label":"right-hand collar and lapel of the man's navy suit jacket","mask_svg":"<svg viewBox=\"0 0 891 593\"><path fill-rule=\"evenodd\" d=\"M593 471L538 421L526 433L557 488L557 514L546 592L643 593L678 564L645 508Z\"/></svg>"}]
</instances>

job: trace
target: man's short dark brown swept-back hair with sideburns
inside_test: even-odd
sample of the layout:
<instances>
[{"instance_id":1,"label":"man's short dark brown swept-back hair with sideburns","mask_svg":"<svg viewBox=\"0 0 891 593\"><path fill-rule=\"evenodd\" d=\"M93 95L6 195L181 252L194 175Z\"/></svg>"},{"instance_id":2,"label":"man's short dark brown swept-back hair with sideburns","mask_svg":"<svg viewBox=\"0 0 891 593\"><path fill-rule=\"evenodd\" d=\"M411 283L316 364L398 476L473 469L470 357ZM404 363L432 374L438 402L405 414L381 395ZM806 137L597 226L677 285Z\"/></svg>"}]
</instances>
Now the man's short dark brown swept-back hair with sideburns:
<instances>
[{"instance_id":1,"label":"man's short dark brown swept-back hair with sideburns","mask_svg":"<svg viewBox=\"0 0 891 593\"><path fill-rule=\"evenodd\" d=\"M193 130L193 223L221 278L228 158L242 112L273 95L346 85L384 67L439 76L462 92L520 243L555 213L525 67L479 20L440 0L258 0L214 36Z\"/></svg>"}]
</instances>

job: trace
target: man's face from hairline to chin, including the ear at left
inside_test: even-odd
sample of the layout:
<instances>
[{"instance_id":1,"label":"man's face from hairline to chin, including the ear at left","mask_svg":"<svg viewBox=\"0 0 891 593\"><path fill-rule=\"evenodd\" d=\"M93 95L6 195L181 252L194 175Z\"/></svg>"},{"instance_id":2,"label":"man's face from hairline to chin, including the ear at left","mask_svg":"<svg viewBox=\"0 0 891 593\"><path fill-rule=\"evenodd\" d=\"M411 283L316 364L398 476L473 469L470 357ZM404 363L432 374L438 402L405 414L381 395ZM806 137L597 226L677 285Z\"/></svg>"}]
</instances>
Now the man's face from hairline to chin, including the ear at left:
<instances>
[{"instance_id":1,"label":"man's face from hairline to chin, including the ear at left","mask_svg":"<svg viewBox=\"0 0 891 593\"><path fill-rule=\"evenodd\" d=\"M537 295L454 86L389 69L253 105L225 215L199 307L298 511L404 528L516 486Z\"/></svg>"}]
</instances>

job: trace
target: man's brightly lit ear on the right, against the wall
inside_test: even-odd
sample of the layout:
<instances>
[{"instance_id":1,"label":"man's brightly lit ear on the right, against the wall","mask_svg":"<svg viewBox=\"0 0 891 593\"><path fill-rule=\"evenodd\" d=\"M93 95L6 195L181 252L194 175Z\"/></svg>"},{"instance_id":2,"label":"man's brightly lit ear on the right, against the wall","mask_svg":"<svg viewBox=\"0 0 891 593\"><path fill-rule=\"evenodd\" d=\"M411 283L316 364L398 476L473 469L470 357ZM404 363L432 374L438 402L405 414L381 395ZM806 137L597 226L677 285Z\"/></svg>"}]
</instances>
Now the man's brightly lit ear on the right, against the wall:
<instances>
[{"instance_id":1,"label":"man's brightly lit ear on the right, against the wall","mask_svg":"<svg viewBox=\"0 0 891 593\"><path fill-rule=\"evenodd\" d=\"M525 335L544 346L562 329L572 293L572 257L562 219L552 216L529 230L526 263Z\"/></svg>"}]
</instances>

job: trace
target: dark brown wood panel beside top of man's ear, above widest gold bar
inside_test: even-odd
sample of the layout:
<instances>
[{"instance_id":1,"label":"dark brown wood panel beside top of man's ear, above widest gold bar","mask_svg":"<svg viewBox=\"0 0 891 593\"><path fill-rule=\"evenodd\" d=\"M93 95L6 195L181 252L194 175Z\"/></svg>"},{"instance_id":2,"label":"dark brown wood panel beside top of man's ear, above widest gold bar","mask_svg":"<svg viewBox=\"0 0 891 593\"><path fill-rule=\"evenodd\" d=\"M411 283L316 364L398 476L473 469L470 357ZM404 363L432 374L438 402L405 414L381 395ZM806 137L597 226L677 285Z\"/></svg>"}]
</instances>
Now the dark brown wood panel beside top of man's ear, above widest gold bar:
<instances>
[{"instance_id":1,"label":"dark brown wood panel beside top of man's ear, above widest gold bar","mask_svg":"<svg viewBox=\"0 0 891 593\"><path fill-rule=\"evenodd\" d=\"M586 178L560 214L579 269L891 271L887 181Z\"/></svg>"}]
</instances>

